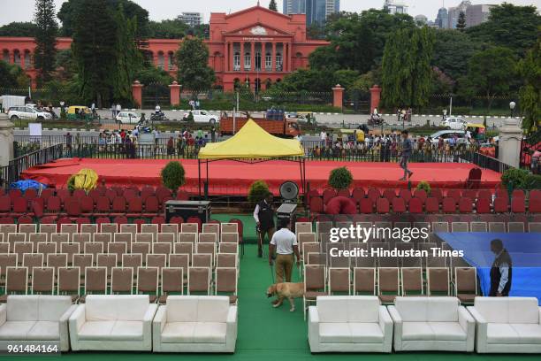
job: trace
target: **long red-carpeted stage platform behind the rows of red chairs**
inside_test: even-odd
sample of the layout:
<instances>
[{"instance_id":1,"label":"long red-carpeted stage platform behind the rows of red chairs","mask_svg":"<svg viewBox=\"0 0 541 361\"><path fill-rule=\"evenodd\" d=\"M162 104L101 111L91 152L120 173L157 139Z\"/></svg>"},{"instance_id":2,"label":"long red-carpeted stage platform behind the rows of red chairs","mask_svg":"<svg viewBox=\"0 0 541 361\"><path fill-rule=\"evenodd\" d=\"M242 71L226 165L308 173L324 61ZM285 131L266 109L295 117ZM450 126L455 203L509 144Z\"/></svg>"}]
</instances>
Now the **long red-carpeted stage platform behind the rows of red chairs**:
<instances>
[{"instance_id":1,"label":"long red-carpeted stage platform behind the rows of red chairs","mask_svg":"<svg viewBox=\"0 0 541 361\"><path fill-rule=\"evenodd\" d=\"M169 160L162 159L62 159L46 165L36 166L22 173L23 179L34 179L49 184L51 187L65 188L68 178L82 168L94 169L108 186L160 184L160 170ZM198 192L197 160L182 159L186 170L187 184L183 187L191 194ZM322 190L327 186L327 179L332 169L347 166L353 173L354 186L362 188L406 188L407 183L399 181L402 170L396 163L307 161L306 173L310 188ZM412 187L421 180L426 180L432 188L464 188L469 170L475 165L465 163L412 163L409 169L414 172ZM202 165L202 178L205 169ZM301 184L299 163L270 161L258 164L243 164L234 161L213 162L209 165L210 195L246 196L249 185L254 180L265 180L273 193L278 194L279 185L285 180ZM484 170L481 188L495 188L500 181L500 174Z\"/></svg>"}]
</instances>

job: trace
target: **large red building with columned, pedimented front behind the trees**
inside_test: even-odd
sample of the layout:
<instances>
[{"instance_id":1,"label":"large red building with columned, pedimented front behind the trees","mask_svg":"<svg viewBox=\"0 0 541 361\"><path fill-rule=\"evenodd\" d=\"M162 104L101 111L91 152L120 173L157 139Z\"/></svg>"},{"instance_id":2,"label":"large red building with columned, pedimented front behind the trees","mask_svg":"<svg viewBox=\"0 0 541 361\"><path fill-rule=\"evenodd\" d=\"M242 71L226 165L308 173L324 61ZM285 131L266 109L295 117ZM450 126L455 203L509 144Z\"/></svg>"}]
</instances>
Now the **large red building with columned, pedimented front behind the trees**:
<instances>
[{"instance_id":1,"label":"large red building with columned, pedimented front behind the trees","mask_svg":"<svg viewBox=\"0 0 541 361\"><path fill-rule=\"evenodd\" d=\"M57 49L69 49L70 38L58 38ZM149 57L157 67L175 75L174 54L180 40L150 39ZM217 75L217 84L232 90L235 81L251 88L266 88L281 81L287 73L307 67L309 54L328 42L309 40L306 15L291 16L254 6L240 12L210 14L209 65ZM33 38L0 37L0 56L20 65L35 84L32 64Z\"/></svg>"}]
</instances>

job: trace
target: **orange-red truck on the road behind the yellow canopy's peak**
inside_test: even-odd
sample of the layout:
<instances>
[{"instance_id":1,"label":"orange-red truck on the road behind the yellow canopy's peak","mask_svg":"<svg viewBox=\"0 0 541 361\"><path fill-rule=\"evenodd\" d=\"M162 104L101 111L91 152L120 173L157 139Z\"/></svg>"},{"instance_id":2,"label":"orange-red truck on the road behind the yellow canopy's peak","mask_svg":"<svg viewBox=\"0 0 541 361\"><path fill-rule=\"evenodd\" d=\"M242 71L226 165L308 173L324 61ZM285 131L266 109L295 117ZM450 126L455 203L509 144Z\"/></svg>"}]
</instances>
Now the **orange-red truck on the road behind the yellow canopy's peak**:
<instances>
[{"instance_id":1,"label":"orange-red truck on the road behind the yellow canopy's peak","mask_svg":"<svg viewBox=\"0 0 541 361\"><path fill-rule=\"evenodd\" d=\"M286 118L284 112L270 111L266 111L263 118L255 118L248 112L235 113L234 124L232 113L223 111L220 116L220 133L226 135L235 134L241 127L244 127L248 119L254 120L259 127L272 135L283 138L293 138L301 135L301 127L297 119Z\"/></svg>"}]
</instances>

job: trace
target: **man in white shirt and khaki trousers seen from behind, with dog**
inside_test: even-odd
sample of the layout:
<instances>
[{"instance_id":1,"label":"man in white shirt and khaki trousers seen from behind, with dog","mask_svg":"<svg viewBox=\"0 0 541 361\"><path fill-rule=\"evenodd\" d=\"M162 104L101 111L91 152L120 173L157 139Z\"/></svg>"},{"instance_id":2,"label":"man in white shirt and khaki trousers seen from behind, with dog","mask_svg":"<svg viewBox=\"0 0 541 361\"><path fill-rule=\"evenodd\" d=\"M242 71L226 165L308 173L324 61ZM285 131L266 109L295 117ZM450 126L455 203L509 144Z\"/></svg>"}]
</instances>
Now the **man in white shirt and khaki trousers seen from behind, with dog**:
<instances>
[{"instance_id":1,"label":"man in white shirt and khaki trousers seen from behind, with dog","mask_svg":"<svg viewBox=\"0 0 541 361\"><path fill-rule=\"evenodd\" d=\"M276 283L291 282L291 273L293 271L293 253L297 257L297 265L301 263L301 254L297 237L289 230L291 227L290 219L280 219L278 225L280 229L272 235L269 243L269 265L273 264L273 256L276 252Z\"/></svg>"}]
</instances>

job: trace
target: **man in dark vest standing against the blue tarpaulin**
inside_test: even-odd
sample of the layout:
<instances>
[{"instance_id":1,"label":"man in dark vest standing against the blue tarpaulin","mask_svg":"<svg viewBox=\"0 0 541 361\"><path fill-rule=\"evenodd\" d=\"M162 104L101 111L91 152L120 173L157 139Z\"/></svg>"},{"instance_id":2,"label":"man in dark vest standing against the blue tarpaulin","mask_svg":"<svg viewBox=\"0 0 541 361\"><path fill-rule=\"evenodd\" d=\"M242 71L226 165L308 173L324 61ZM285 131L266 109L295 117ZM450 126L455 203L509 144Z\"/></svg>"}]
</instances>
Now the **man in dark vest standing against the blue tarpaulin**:
<instances>
[{"instance_id":1,"label":"man in dark vest standing against the blue tarpaulin","mask_svg":"<svg viewBox=\"0 0 541 361\"><path fill-rule=\"evenodd\" d=\"M496 255L491 267L491 291L489 296L509 296L513 278L511 256L499 239L491 241L491 251Z\"/></svg>"}]
</instances>

